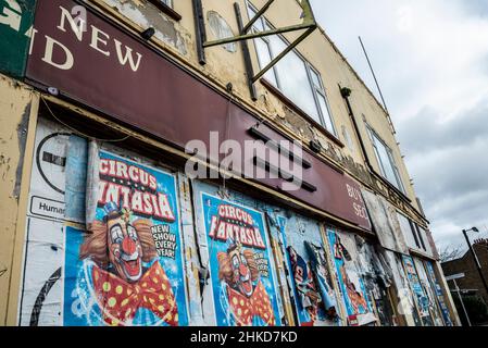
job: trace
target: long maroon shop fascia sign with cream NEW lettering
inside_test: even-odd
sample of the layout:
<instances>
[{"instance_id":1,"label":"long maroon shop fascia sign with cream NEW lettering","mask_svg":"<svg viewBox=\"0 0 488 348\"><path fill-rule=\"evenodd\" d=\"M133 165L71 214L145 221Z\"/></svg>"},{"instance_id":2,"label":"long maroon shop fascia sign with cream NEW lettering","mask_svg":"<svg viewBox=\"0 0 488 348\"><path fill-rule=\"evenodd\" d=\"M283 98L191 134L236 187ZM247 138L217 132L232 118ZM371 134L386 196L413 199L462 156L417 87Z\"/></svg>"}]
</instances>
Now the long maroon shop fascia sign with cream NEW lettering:
<instances>
[{"instance_id":1,"label":"long maroon shop fascia sign with cream NEW lettering","mask_svg":"<svg viewBox=\"0 0 488 348\"><path fill-rule=\"evenodd\" d=\"M79 18L72 14L76 4L39 3L29 80L55 87L62 96L182 149L195 139L211 149L211 132L217 132L221 141L226 140L224 135L240 145L254 140L248 130L256 117L89 10L80 30ZM286 139L264 124L260 130L270 139ZM222 160L224 154L220 156ZM304 173L309 189L281 192L371 231L360 186L314 156L304 157L311 163ZM259 182L275 190L285 183Z\"/></svg>"}]
</instances>

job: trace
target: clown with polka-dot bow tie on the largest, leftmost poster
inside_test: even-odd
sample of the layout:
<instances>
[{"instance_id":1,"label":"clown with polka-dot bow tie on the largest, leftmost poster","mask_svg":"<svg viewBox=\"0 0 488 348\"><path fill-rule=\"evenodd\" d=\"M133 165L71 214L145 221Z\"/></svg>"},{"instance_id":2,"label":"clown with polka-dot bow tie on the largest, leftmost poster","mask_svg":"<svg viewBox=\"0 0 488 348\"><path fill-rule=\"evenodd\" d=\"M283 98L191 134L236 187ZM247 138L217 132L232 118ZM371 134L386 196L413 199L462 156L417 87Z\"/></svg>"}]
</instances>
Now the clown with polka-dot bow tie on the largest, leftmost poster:
<instances>
[{"instance_id":1,"label":"clown with polka-dot bow tie on the largest, leftmost poster","mask_svg":"<svg viewBox=\"0 0 488 348\"><path fill-rule=\"evenodd\" d=\"M151 221L133 220L130 211L113 202L104 212L80 248L103 322L126 326L153 318L155 324L177 326L178 308L158 260Z\"/></svg>"}]
</instances>

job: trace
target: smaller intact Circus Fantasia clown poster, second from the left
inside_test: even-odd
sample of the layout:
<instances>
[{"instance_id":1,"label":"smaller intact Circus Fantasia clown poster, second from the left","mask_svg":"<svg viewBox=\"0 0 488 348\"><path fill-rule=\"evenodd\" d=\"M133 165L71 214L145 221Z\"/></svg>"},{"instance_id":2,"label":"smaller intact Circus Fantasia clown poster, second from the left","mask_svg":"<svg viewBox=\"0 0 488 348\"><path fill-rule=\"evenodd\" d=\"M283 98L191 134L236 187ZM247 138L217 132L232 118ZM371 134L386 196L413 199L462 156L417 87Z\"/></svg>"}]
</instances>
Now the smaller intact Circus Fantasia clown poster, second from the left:
<instances>
[{"instance_id":1,"label":"smaller intact Circus Fantasia clown poster, second from the left","mask_svg":"<svg viewBox=\"0 0 488 348\"><path fill-rule=\"evenodd\" d=\"M217 326L279 326L264 215L201 194Z\"/></svg>"}]
</instances>

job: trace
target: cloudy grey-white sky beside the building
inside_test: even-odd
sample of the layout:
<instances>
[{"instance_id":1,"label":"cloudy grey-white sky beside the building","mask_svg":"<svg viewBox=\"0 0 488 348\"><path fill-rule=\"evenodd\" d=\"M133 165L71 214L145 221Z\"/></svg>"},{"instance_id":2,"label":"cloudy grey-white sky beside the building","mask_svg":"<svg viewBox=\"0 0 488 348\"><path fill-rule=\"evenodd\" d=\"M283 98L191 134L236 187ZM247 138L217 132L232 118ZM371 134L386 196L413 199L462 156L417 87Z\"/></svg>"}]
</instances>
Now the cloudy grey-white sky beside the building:
<instances>
[{"instance_id":1,"label":"cloudy grey-white sky beside the building","mask_svg":"<svg viewBox=\"0 0 488 348\"><path fill-rule=\"evenodd\" d=\"M472 226L488 236L488 1L312 5L376 92L362 37L438 246L463 245L461 231Z\"/></svg>"}]
</instances>

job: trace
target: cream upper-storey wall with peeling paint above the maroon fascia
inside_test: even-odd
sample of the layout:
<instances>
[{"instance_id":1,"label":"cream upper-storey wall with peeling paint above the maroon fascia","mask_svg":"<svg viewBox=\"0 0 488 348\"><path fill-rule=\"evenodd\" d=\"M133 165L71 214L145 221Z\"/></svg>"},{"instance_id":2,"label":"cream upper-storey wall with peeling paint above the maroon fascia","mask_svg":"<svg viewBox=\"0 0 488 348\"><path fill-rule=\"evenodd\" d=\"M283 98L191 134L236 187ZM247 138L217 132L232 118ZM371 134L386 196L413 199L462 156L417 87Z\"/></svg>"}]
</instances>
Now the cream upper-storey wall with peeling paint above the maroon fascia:
<instances>
[{"instance_id":1,"label":"cream upper-storey wall with peeling paint above the maroon fascia","mask_svg":"<svg viewBox=\"0 0 488 348\"><path fill-rule=\"evenodd\" d=\"M180 21L174 21L145 0L91 0L109 11L113 16L121 18L138 32L148 27L155 29L154 41L163 48L176 53L184 63L193 70L200 71L203 77L221 87L233 84L233 95L236 99L254 108L266 119L274 122L281 130L288 133L308 145L311 140L318 139L324 151L321 156L333 160L342 166L348 174L386 196L404 213L416 221L422 221L418 214L416 196L410 183L410 175L404 165L402 153L390 126L389 120L378 101L368 91L358 74L345 61L334 42L321 29L315 30L301 42L297 50L321 74L329 108L337 129L337 138L345 145L340 147L331 141L320 128L316 128L302 115L287 107L273 91L263 84L255 84L258 101L253 102L249 95L247 74L245 71L241 44L226 45L205 49L207 64L200 65L197 58L197 44L195 18L191 1L175 1L174 10L182 15ZM264 5L265 0L253 0L256 8ZM249 21L247 1L239 0L243 22ZM234 3L221 0L203 0L203 14L208 40L222 39L238 33ZM281 0L274 3L265 16L275 27L284 27L300 23L301 9L295 0ZM298 33L287 33L284 37L292 41ZM259 71L259 62L255 47L249 40L249 48L254 71ZM237 50L236 50L237 49ZM412 201L408 203L395 190L389 188L380 179L371 175L364 160L358 135L353 128L345 100L340 95L338 85L352 90L351 105L359 124L360 137L365 144L366 154L376 170L380 172L376 161L374 149L368 140L363 115L367 123L379 134L393 152L393 158L399 166L402 182L406 188L406 196ZM287 96L291 97L292 96Z\"/></svg>"}]
</instances>

